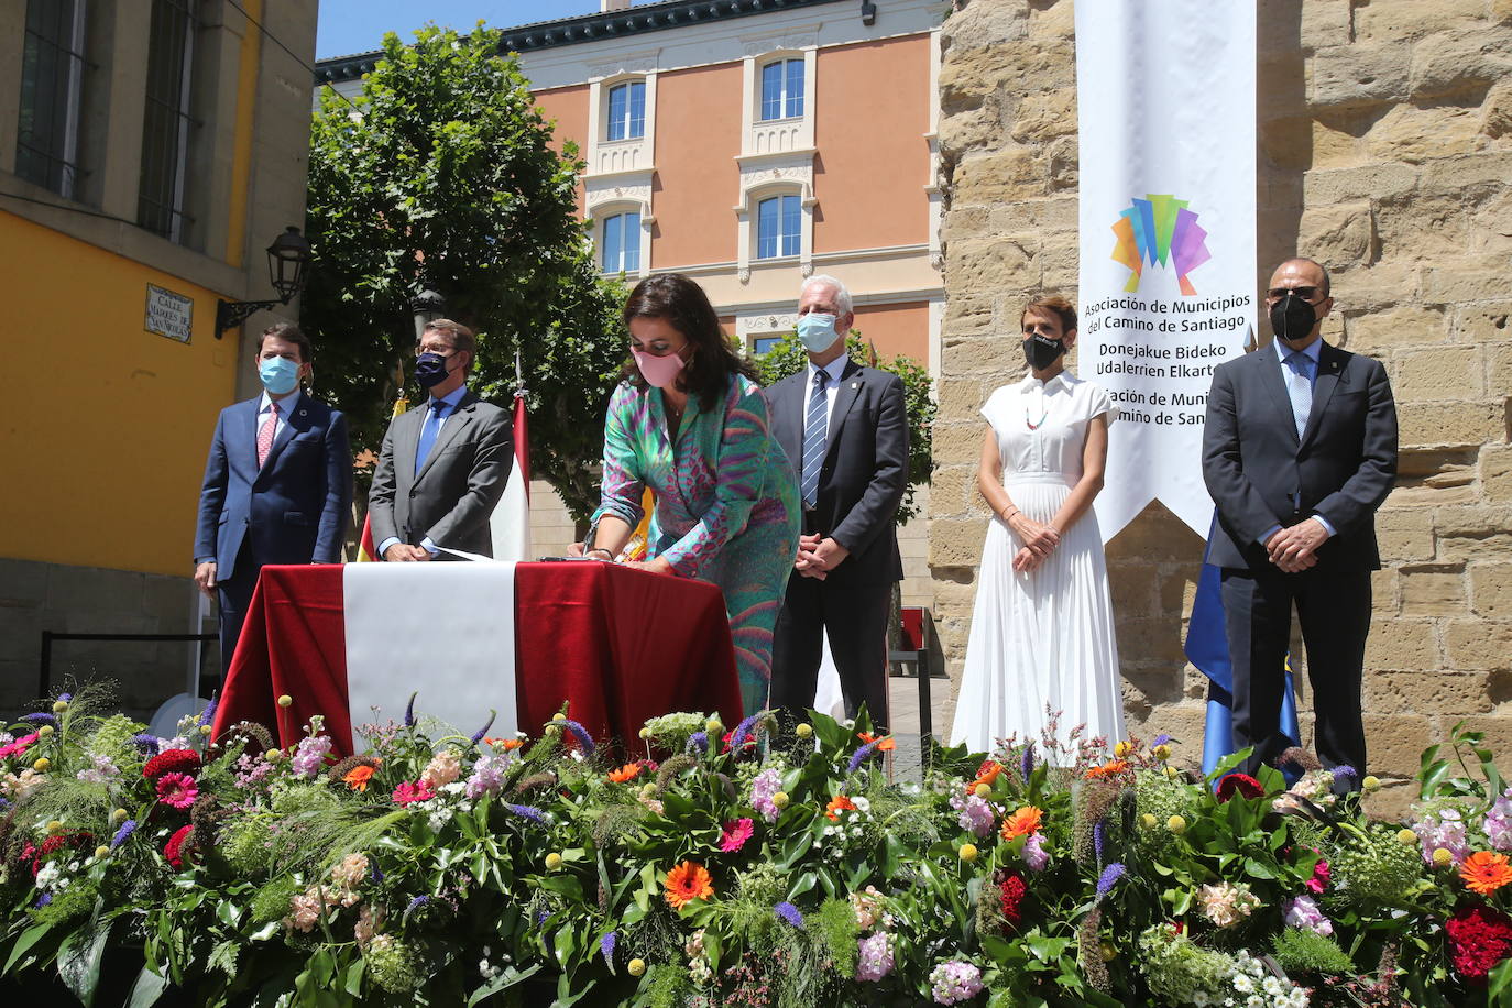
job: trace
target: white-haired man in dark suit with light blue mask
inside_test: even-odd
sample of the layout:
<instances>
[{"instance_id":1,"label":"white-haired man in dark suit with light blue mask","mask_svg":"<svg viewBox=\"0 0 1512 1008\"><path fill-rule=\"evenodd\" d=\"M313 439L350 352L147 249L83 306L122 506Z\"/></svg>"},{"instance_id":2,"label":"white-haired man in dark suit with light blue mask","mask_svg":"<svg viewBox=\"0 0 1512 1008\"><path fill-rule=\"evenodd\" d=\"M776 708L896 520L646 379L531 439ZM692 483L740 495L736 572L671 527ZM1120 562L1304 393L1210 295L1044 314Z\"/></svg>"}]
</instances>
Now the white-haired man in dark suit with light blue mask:
<instances>
[{"instance_id":1,"label":"white-haired man in dark suit with light blue mask","mask_svg":"<svg viewBox=\"0 0 1512 1008\"><path fill-rule=\"evenodd\" d=\"M798 295L809 366L767 390L771 432L803 499L803 536L773 639L771 706L813 706L821 642L841 679L845 713L866 704L888 724L888 614L903 579L898 503L909 482L903 381L845 355L854 314L845 286L810 277Z\"/></svg>"}]
</instances>

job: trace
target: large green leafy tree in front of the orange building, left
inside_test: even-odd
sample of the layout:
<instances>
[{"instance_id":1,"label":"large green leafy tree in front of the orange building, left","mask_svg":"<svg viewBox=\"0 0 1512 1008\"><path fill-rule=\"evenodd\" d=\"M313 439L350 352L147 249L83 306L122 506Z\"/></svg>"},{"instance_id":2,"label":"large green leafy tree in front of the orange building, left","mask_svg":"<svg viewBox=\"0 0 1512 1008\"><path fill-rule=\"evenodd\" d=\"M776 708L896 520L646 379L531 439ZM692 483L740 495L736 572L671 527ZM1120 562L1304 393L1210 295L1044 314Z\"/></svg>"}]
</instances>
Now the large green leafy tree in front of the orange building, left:
<instances>
[{"instance_id":1,"label":"large green leafy tree in front of the orange building, left","mask_svg":"<svg viewBox=\"0 0 1512 1008\"><path fill-rule=\"evenodd\" d=\"M302 322L321 393L346 413L357 450L376 449L414 351L413 296L479 332L472 387L508 407L519 352L531 467L582 515L624 357L623 290L599 281L575 145L550 148L499 32L384 36L351 103L327 91L310 136L307 233L316 263Z\"/></svg>"}]
</instances>

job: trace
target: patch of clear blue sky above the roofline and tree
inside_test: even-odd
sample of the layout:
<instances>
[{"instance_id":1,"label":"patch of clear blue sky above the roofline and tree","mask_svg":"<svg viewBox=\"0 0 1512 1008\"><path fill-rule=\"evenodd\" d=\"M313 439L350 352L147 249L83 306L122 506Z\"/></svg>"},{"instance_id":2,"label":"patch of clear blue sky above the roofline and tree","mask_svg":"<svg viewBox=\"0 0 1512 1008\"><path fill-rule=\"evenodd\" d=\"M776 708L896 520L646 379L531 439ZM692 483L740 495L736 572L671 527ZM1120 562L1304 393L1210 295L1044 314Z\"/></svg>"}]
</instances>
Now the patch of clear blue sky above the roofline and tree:
<instances>
[{"instance_id":1,"label":"patch of clear blue sky above the roofline and tree","mask_svg":"<svg viewBox=\"0 0 1512 1008\"><path fill-rule=\"evenodd\" d=\"M594 14L599 0L321 0L316 59L370 53L386 32L410 39L426 21L470 29L479 20L491 27Z\"/></svg>"}]
</instances>

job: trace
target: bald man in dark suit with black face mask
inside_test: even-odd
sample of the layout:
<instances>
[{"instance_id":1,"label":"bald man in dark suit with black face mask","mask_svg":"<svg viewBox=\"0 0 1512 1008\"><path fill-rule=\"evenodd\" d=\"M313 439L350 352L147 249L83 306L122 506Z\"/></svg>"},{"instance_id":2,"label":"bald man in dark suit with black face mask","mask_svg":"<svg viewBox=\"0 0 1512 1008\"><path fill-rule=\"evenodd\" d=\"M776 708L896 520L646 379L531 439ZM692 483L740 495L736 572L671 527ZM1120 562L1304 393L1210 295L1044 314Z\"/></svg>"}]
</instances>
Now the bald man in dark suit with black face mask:
<instances>
[{"instance_id":1,"label":"bald man in dark suit with black face mask","mask_svg":"<svg viewBox=\"0 0 1512 1008\"><path fill-rule=\"evenodd\" d=\"M1266 307L1275 343L1214 372L1202 476L1219 511L1211 562L1223 568L1234 662L1234 748L1246 769L1288 745L1279 731L1291 608L1302 623L1318 759L1365 772L1361 676L1376 509L1397 472L1397 411L1379 361L1320 337L1334 308L1328 272L1282 263Z\"/></svg>"}]
</instances>

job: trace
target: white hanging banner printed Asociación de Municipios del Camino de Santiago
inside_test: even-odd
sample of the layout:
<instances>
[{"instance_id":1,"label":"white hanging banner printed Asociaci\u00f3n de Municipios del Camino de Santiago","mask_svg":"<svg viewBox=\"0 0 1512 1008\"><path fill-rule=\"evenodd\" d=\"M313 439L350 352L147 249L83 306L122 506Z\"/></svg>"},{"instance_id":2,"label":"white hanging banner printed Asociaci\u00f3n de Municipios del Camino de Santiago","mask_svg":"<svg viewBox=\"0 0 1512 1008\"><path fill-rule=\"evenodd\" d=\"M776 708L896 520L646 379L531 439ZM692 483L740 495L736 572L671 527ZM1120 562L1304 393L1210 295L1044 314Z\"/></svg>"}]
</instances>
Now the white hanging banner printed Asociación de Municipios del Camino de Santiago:
<instances>
[{"instance_id":1,"label":"white hanging banner printed Asociaci\u00f3n de Municipios del Camino de Santiago","mask_svg":"<svg viewBox=\"0 0 1512 1008\"><path fill-rule=\"evenodd\" d=\"M1255 319L1253 0L1077 0L1078 372L1113 397L1098 524L1207 535L1202 420Z\"/></svg>"}]
</instances>

